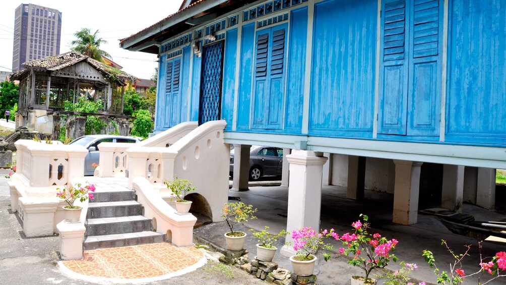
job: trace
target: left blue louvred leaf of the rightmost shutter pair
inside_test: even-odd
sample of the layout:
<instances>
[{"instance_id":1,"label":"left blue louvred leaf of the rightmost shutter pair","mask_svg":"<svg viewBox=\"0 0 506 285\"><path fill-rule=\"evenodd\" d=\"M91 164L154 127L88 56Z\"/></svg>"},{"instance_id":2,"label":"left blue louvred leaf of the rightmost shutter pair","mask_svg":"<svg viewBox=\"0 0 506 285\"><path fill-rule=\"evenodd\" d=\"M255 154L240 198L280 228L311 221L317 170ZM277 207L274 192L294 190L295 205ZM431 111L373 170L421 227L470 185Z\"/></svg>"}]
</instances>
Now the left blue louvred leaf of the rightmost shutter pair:
<instances>
[{"instance_id":1,"label":"left blue louvred leaf of the rightmost shutter pair","mask_svg":"<svg viewBox=\"0 0 506 285\"><path fill-rule=\"evenodd\" d=\"M383 2L378 133L406 134L408 64L406 1Z\"/></svg>"}]
</instances>

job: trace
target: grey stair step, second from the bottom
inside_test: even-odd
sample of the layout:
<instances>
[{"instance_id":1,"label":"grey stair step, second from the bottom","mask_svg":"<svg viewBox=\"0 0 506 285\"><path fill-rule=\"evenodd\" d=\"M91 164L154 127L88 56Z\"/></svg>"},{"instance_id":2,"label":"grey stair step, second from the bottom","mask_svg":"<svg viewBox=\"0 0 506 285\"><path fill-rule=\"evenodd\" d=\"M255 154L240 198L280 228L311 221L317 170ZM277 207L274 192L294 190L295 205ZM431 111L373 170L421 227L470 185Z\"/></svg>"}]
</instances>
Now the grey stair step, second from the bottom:
<instances>
[{"instance_id":1,"label":"grey stair step, second from the bottom","mask_svg":"<svg viewBox=\"0 0 506 285\"><path fill-rule=\"evenodd\" d=\"M151 219L143 216L88 219L86 235L124 234L151 230Z\"/></svg>"}]
</instances>

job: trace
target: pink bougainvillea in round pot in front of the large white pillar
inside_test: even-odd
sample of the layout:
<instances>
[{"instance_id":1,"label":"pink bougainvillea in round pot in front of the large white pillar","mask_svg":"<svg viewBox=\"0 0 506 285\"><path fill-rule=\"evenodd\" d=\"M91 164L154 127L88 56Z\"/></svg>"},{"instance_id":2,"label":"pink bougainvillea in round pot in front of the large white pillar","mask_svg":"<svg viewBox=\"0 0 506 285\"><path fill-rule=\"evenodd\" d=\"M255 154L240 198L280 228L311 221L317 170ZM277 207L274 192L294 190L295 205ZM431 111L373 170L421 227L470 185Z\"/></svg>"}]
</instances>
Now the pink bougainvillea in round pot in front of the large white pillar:
<instances>
[{"instance_id":1,"label":"pink bougainvillea in round pot in front of the large white pillar","mask_svg":"<svg viewBox=\"0 0 506 285\"><path fill-rule=\"evenodd\" d=\"M292 231L291 238L293 238L293 250L296 251L296 255L290 256L290 262L294 274L299 276L313 275L317 260L316 252L334 248L329 243L324 242L324 238L329 234L327 230L319 233L311 227L302 227L299 230ZM323 257L325 261L328 261L330 254L324 253Z\"/></svg>"}]
</instances>

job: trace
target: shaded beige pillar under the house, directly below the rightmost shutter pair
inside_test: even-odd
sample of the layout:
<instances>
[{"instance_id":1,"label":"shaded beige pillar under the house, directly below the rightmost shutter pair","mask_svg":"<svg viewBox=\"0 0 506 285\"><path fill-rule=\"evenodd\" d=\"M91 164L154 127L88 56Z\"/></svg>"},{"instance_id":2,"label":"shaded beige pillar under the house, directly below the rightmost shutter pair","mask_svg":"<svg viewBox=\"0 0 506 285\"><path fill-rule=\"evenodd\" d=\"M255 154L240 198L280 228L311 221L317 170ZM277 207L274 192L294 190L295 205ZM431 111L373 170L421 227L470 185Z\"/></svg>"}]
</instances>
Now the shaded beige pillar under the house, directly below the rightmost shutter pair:
<instances>
[{"instance_id":1,"label":"shaded beige pillar under the house, directly below the rightmost shutter pair","mask_svg":"<svg viewBox=\"0 0 506 285\"><path fill-rule=\"evenodd\" d=\"M394 212L393 222L401 225L416 224L420 167L423 162L394 160Z\"/></svg>"}]
</instances>

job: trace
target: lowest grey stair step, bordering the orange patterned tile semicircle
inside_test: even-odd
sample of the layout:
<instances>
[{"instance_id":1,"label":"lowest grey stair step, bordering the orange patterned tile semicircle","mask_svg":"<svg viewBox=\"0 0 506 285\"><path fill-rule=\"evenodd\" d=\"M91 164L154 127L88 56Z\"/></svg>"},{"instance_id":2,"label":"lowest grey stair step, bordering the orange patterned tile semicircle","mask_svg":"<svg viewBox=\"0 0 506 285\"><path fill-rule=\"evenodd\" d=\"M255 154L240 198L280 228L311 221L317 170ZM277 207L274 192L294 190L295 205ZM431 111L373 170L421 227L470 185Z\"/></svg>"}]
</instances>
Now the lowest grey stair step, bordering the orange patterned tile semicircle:
<instances>
[{"instance_id":1,"label":"lowest grey stair step, bordering the orange patterned tile semicircle","mask_svg":"<svg viewBox=\"0 0 506 285\"><path fill-rule=\"evenodd\" d=\"M82 247L83 250L89 251L104 248L145 245L147 243L164 241L165 234L153 231L142 231L123 234L88 236L86 237L85 242L83 242Z\"/></svg>"}]
</instances>

